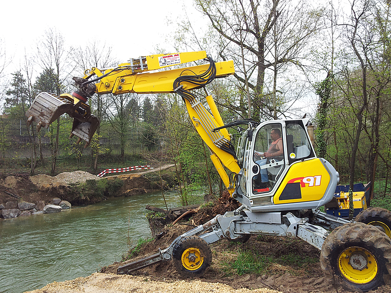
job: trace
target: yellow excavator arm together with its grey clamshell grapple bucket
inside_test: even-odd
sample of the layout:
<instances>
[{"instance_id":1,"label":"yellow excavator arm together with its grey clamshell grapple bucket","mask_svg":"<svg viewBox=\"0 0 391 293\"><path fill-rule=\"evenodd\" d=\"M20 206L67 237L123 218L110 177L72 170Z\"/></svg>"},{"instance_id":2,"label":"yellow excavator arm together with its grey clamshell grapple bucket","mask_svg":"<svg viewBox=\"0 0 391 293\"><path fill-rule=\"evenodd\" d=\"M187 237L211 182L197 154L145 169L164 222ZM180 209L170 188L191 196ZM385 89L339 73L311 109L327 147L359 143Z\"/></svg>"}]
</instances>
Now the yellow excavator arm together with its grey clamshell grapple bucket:
<instances>
[{"instance_id":1,"label":"yellow excavator arm together with its grey clamshell grapple bucket","mask_svg":"<svg viewBox=\"0 0 391 293\"><path fill-rule=\"evenodd\" d=\"M164 69L203 59L209 64ZM157 71L158 69L160 70ZM224 123L213 98L206 98L209 111L190 90L204 87L215 78L226 77L234 72L233 61L215 63L206 56L205 51L140 57L110 69L92 67L84 71L84 77L73 78L77 89L72 94L54 97L41 93L31 104L26 116L29 117L29 123L37 122L39 130L42 126L48 127L62 114L67 113L74 118L71 137L76 135L79 141L85 140L88 145L99 125L98 119L91 115L90 106L87 104L94 94L177 93L185 101L190 120L211 150L211 159L232 194L234 189L222 164L235 173L238 173L240 168L228 131L224 128L215 131Z\"/></svg>"}]
</instances>

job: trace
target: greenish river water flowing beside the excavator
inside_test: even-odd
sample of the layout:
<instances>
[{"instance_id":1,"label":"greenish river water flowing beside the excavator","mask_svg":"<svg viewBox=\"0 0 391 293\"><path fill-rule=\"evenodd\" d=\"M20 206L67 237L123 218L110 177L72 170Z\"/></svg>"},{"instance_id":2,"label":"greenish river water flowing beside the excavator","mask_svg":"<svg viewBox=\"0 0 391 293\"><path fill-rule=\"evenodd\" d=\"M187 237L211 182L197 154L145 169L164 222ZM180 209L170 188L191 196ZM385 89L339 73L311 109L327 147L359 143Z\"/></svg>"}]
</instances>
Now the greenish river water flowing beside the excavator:
<instances>
[{"instance_id":1,"label":"greenish river water flowing beside the excavator","mask_svg":"<svg viewBox=\"0 0 391 293\"><path fill-rule=\"evenodd\" d=\"M168 208L180 206L165 194ZM21 293L54 281L86 277L121 260L139 237L151 235L149 204L165 208L161 193L111 198L60 213L0 220L0 292Z\"/></svg>"}]
</instances>

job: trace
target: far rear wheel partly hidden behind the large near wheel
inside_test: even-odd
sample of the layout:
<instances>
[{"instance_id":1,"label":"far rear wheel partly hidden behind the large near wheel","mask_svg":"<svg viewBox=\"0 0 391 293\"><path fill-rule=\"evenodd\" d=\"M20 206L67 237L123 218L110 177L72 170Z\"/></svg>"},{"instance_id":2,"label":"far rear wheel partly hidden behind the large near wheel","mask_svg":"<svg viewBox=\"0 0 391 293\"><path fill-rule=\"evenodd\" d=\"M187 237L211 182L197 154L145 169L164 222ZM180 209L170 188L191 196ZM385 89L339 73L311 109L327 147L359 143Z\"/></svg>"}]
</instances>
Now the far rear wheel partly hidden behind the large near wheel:
<instances>
[{"instance_id":1,"label":"far rear wheel partly hidden behind the large near wheel","mask_svg":"<svg viewBox=\"0 0 391 293\"><path fill-rule=\"evenodd\" d=\"M368 208L357 215L356 222L375 226L391 238L391 212L389 210L379 207Z\"/></svg>"}]
</instances>

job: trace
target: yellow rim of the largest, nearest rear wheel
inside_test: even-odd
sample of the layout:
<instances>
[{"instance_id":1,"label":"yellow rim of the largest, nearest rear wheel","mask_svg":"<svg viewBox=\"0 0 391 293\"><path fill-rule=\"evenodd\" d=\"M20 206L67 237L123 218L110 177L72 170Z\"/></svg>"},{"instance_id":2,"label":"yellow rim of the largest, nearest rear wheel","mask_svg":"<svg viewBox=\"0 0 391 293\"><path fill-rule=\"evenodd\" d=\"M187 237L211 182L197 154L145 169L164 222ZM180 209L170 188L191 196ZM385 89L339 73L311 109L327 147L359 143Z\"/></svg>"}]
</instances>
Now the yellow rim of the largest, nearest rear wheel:
<instances>
[{"instance_id":1,"label":"yellow rim of the largest, nearest rear wheel","mask_svg":"<svg viewBox=\"0 0 391 293\"><path fill-rule=\"evenodd\" d=\"M345 249L338 257L338 268L344 278L356 284L366 284L378 273L374 255L362 247Z\"/></svg>"}]
</instances>

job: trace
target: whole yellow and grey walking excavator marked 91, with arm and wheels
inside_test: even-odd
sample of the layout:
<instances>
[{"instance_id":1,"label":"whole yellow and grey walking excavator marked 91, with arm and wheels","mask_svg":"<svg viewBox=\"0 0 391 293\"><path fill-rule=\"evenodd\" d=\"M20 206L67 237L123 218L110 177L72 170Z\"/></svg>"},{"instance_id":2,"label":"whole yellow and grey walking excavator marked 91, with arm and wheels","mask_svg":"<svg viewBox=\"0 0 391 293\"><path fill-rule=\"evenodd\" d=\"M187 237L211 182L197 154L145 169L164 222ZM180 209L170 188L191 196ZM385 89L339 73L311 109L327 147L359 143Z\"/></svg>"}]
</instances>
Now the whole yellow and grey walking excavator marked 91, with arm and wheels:
<instances>
[{"instance_id":1,"label":"whole yellow and grey walking excavator marked 91, with arm and wheels","mask_svg":"<svg viewBox=\"0 0 391 293\"><path fill-rule=\"evenodd\" d=\"M194 61L203 63L184 65ZM183 98L225 187L241 206L180 235L156 254L120 266L120 274L172 260L182 276L202 276L211 264L211 243L268 234L299 237L321 250L326 278L345 289L382 285L391 273L391 213L367 209L359 223L319 211L332 200L339 174L316 157L308 119L224 124L214 99L200 99L191 91L234 72L233 61L215 63L205 51L139 57L116 68L85 70L82 78L74 78L72 94L39 94L26 116L39 130L67 113L74 118L72 135L88 145L99 121L87 101L96 93L176 93ZM229 128L240 132L236 146Z\"/></svg>"}]
</instances>

